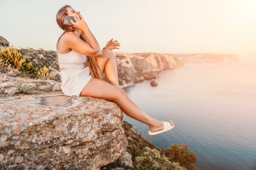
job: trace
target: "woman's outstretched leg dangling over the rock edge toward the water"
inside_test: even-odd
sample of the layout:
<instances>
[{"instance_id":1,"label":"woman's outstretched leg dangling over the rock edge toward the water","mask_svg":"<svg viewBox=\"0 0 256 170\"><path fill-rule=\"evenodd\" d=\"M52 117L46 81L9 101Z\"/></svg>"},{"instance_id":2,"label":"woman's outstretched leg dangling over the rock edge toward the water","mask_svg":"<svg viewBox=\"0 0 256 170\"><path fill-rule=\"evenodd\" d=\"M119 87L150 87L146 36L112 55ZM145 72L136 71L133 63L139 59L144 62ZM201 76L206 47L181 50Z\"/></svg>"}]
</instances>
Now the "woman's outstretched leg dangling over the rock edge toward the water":
<instances>
[{"instance_id":1,"label":"woman's outstretched leg dangling over the rock edge toward the water","mask_svg":"<svg viewBox=\"0 0 256 170\"><path fill-rule=\"evenodd\" d=\"M148 124L151 132L156 132L164 128L162 121L147 115L132 102L126 92L118 86L110 85L102 80L92 78L87 85L85 85L80 96L90 96L116 102L121 110L129 117ZM170 121L170 123L173 125L172 121Z\"/></svg>"}]
</instances>

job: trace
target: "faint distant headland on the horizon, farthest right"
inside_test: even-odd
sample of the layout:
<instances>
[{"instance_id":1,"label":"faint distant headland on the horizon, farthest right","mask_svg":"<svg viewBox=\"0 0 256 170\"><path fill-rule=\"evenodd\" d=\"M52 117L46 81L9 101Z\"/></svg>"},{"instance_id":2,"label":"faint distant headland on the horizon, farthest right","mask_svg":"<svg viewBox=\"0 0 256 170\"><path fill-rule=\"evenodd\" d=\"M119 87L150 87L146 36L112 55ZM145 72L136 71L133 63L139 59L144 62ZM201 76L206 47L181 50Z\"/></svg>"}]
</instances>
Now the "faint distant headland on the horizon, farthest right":
<instances>
[{"instance_id":1,"label":"faint distant headland on the horizon, farthest right","mask_svg":"<svg viewBox=\"0 0 256 170\"><path fill-rule=\"evenodd\" d=\"M173 54L173 56L183 63L239 62L237 55L234 55L234 54L195 53L195 54Z\"/></svg>"}]
</instances>

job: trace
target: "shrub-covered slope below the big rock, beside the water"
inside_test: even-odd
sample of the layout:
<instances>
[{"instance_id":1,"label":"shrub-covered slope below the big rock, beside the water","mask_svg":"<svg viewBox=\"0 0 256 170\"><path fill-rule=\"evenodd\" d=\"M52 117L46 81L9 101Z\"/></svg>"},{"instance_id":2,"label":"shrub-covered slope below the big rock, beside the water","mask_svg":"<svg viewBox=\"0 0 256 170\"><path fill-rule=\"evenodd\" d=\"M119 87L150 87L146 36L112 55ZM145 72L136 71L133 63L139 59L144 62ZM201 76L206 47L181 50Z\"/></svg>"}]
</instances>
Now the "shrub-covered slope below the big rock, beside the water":
<instances>
[{"instance_id":1,"label":"shrub-covered slope below the big rock, beside the water","mask_svg":"<svg viewBox=\"0 0 256 170\"><path fill-rule=\"evenodd\" d=\"M172 144L169 148L158 148L137 133L132 125L124 121L123 128L128 140L127 151L132 155L133 167L125 167L119 159L101 167L112 170L122 167L124 170L199 170L194 167L196 153L188 153L189 145Z\"/></svg>"}]
</instances>

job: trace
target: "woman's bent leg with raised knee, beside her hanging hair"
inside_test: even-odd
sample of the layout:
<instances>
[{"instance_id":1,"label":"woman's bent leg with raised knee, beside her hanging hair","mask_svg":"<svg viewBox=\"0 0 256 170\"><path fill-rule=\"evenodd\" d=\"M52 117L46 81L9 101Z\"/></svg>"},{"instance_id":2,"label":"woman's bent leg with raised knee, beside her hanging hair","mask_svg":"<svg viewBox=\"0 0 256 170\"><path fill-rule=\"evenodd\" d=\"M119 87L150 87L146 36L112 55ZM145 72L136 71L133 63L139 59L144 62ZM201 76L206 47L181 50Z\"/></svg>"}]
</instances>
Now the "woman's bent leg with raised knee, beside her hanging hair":
<instances>
[{"instance_id":1,"label":"woman's bent leg with raised knee, beside her hanging hair","mask_svg":"<svg viewBox=\"0 0 256 170\"><path fill-rule=\"evenodd\" d=\"M105 71L108 82L111 85L119 86L114 52L105 49L102 51L102 55L96 59L102 73Z\"/></svg>"}]
</instances>

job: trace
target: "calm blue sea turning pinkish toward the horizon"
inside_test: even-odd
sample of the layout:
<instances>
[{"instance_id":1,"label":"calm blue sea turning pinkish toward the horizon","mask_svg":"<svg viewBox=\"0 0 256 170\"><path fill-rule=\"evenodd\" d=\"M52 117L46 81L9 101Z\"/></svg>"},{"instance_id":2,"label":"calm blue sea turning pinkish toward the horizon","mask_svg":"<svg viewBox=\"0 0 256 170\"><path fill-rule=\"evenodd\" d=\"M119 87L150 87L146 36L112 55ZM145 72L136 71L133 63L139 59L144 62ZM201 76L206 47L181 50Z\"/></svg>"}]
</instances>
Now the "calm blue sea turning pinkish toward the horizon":
<instances>
[{"instance_id":1,"label":"calm blue sea turning pinkish toward the horizon","mask_svg":"<svg viewBox=\"0 0 256 170\"><path fill-rule=\"evenodd\" d=\"M172 119L175 127L157 136L129 118L156 146L190 144L202 170L256 170L256 63L187 64L125 88L147 114Z\"/></svg>"}]
</instances>

